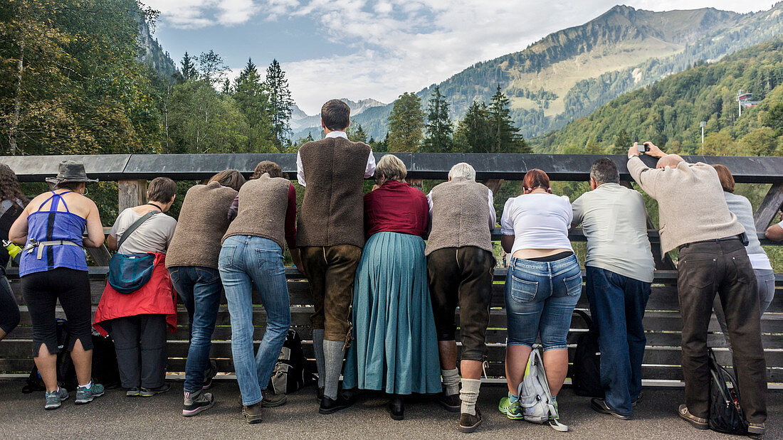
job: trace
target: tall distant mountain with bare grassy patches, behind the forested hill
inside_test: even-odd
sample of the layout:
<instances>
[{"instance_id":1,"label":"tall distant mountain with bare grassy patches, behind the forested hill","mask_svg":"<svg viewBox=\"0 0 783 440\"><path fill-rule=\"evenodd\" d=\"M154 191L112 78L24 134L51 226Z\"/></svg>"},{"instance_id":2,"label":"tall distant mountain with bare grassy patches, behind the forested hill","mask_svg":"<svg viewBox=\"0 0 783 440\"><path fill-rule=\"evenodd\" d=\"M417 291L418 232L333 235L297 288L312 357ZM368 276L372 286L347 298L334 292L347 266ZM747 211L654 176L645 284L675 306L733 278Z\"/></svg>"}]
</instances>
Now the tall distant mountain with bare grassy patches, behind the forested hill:
<instances>
[{"instance_id":1,"label":"tall distant mountain with bare grassy patches, behind the forested hill","mask_svg":"<svg viewBox=\"0 0 783 440\"><path fill-rule=\"evenodd\" d=\"M496 85L511 98L525 138L564 127L622 93L699 60L716 60L783 32L783 3L760 13L717 9L652 12L615 6L579 27L560 30L521 52L476 63L438 84L454 120ZM417 95L426 100L435 84ZM355 118L383 138L391 104Z\"/></svg>"}]
</instances>

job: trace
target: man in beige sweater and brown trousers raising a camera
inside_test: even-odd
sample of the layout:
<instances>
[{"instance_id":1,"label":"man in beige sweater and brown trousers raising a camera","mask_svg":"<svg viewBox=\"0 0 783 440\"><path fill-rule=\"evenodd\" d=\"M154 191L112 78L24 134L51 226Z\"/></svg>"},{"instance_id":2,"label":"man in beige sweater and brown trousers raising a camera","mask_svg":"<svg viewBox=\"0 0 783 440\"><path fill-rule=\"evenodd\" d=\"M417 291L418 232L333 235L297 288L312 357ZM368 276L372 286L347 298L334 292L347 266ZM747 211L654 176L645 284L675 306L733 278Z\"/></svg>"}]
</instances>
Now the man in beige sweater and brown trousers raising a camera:
<instances>
[{"instance_id":1,"label":"man in beige sweater and brown trousers raising a camera","mask_svg":"<svg viewBox=\"0 0 783 440\"><path fill-rule=\"evenodd\" d=\"M659 158L656 167L644 165L640 154ZM756 277L745 252L745 228L729 211L716 170L666 155L652 142L642 148L634 144L627 166L633 180L658 201L662 251L680 249L677 292L686 403L679 416L694 427L709 428L707 330L717 292L726 311L748 431L763 434L767 377Z\"/></svg>"}]
</instances>

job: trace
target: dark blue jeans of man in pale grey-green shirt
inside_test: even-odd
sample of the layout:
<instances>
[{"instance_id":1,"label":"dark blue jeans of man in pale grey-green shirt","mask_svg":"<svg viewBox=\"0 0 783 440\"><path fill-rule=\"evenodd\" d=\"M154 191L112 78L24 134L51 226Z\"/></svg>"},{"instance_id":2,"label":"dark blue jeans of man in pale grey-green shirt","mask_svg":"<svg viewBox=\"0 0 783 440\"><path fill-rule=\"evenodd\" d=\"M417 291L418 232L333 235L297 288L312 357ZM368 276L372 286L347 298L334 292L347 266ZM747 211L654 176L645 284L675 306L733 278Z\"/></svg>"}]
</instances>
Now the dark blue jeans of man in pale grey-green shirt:
<instances>
[{"instance_id":1,"label":"dark blue jeans of man in pale grey-green shirt","mask_svg":"<svg viewBox=\"0 0 783 440\"><path fill-rule=\"evenodd\" d=\"M631 402L641 392L644 358L644 308L650 298L650 283L586 267L590 315L598 331L601 349L601 385L609 408L623 416L632 413Z\"/></svg>"}]
</instances>

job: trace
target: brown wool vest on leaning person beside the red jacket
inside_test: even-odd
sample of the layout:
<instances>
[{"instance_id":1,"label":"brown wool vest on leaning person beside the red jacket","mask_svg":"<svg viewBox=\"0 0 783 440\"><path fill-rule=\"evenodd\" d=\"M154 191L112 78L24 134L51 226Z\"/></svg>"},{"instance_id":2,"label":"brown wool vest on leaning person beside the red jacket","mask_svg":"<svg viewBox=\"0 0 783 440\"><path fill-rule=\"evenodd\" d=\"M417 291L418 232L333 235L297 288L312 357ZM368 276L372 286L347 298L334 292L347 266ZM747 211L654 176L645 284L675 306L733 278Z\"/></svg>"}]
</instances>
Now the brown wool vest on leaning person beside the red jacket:
<instances>
[{"instance_id":1,"label":"brown wool vest on leaning person beside the red jacket","mask_svg":"<svg viewBox=\"0 0 783 440\"><path fill-rule=\"evenodd\" d=\"M179 211L174 238L168 246L166 267L218 268L220 241L229 227L229 206L236 197L233 188L218 182L190 188Z\"/></svg>"}]
</instances>

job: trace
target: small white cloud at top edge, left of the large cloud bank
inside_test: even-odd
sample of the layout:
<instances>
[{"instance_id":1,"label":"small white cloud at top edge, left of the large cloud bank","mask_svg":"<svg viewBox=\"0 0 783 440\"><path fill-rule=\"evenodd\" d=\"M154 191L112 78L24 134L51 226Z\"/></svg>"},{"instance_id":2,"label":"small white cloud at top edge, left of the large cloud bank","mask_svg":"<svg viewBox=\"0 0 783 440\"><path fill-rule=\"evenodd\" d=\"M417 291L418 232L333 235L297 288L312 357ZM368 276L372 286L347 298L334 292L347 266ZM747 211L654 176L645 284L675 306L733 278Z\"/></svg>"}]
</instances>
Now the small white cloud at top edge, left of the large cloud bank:
<instances>
[{"instance_id":1,"label":"small white cloud at top edge, left of the large cloud bank","mask_svg":"<svg viewBox=\"0 0 783 440\"><path fill-rule=\"evenodd\" d=\"M145 0L161 11L161 22L180 29L246 23L258 12L254 0Z\"/></svg>"}]
</instances>

